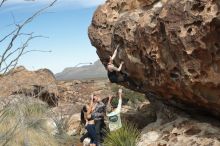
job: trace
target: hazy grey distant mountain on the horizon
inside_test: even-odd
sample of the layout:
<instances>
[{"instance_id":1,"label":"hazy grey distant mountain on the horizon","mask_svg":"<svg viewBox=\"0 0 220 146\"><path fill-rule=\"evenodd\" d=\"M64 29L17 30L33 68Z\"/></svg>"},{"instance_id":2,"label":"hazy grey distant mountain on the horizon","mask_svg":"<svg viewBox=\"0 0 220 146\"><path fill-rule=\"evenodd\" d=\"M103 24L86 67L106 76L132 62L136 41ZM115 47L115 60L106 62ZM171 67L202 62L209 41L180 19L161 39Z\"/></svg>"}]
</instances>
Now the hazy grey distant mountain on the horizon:
<instances>
[{"instance_id":1,"label":"hazy grey distant mountain on the horizon","mask_svg":"<svg viewBox=\"0 0 220 146\"><path fill-rule=\"evenodd\" d=\"M65 68L61 73L55 74L55 77L57 80L97 79L107 78L107 72L101 61L98 60L92 65Z\"/></svg>"}]
</instances>

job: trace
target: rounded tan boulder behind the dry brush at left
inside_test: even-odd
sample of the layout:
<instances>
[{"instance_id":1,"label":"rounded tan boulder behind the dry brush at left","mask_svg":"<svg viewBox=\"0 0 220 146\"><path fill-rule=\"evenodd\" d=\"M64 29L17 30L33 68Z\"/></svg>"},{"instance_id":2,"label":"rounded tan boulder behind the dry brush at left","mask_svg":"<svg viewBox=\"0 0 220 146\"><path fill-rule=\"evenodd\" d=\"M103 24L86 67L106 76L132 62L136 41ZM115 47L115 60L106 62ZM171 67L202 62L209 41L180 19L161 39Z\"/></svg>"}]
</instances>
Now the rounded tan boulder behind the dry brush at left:
<instances>
[{"instance_id":1,"label":"rounded tan boulder behind the dry brush at left","mask_svg":"<svg viewBox=\"0 0 220 146\"><path fill-rule=\"evenodd\" d=\"M51 106L58 103L58 89L53 73L47 69L35 72L17 67L0 77L0 97L24 94L39 98Z\"/></svg>"}]
</instances>

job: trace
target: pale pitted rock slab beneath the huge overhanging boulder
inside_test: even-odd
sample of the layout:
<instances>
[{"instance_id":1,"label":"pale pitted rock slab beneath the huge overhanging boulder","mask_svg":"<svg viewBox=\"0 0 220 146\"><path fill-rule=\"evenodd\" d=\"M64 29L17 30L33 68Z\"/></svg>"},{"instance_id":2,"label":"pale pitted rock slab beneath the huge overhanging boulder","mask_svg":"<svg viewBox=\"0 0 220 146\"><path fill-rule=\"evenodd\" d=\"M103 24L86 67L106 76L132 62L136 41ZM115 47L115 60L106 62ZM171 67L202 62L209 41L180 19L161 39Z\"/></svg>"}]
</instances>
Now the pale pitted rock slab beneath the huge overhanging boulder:
<instances>
[{"instance_id":1,"label":"pale pitted rock slab beneath the huge overhanging boulder","mask_svg":"<svg viewBox=\"0 0 220 146\"><path fill-rule=\"evenodd\" d=\"M219 121L214 118L189 115L164 105L151 102L157 120L141 132L138 146L219 146Z\"/></svg>"}]
</instances>

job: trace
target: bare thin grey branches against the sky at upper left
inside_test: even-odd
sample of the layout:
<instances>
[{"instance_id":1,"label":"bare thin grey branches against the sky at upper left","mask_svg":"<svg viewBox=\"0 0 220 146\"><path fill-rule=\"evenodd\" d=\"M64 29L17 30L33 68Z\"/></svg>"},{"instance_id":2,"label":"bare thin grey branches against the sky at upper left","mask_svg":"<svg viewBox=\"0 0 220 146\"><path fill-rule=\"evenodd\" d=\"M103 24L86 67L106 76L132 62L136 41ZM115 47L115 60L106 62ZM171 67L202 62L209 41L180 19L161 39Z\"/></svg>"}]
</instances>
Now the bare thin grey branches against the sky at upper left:
<instances>
[{"instance_id":1,"label":"bare thin grey branches against the sky at upper left","mask_svg":"<svg viewBox=\"0 0 220 146\"><path fill-rule=\"evenodd\" d=\"M0 7L2 6L2 4L7 1L7 0L3 0L0 4ZM57 2L57 0L54 0L52 3L50 3L48 6L38 10L37 12L35 12L32 16L30 16L29 18L27 18L23 23L21 24L16 24L16 21L15 21L15 17L13 15L13 13L11 13L12 15L12 18L13 18L13 22L14 22L14 25L16 26L16 28L11 32L9 33L8 35L6 35L5 37L3 37L1 40L0 40L0 43L5 41L7 38L11 37L5 51L3 52L3 54L0 56L0 73L3 72L4 74L7 73L7 71L10 69L10 68L14 68L16 67L17 63L18 63L18 60L19 58L24 55L24 54L27 54L29 52L51 52L51 51L42 51L42 50L29 50L29 51L25 51L25 49L28 47L28 43L29 41L31 41L32 39L34 38L37 38L37 37L44 37L44 36L32 36L33 33L21 33L21 31L23 30L23 28L29 24L30 22L33 21L33 19L37 16L39 16L40 14L42 14L45 10L47 10L49 7L52 7L55 3ZM14 44L15 44L15 41L21 37L21 36L29 36L25 43L23 43L23 45L21 47L18 47L16 49L14 49ZM45 37L47 38L47 37ZM9 59L10 57L12 56L15 56L14 58L12 59ZM10 60L9 63L6 63L7 60ZM5 66L3 66L5 65Z\"/></svg>"}]
</instances>

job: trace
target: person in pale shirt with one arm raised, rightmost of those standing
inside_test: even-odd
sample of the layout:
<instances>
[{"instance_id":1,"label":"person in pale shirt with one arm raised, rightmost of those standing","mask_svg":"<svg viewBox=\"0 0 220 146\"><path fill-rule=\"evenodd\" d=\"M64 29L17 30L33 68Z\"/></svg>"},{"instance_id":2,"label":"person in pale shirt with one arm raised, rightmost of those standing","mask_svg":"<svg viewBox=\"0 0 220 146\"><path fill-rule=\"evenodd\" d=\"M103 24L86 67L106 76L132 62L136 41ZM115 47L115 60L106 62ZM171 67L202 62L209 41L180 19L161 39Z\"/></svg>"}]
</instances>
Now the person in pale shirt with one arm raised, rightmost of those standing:
<instances>
[{"instance_id":1,"label":"person in pale shirt with one arm raised, rightmost of those standing","mask_svg":"<svg viewBox=\"0 0 220 146\"><path fill-rule=\"evenodd\" d=\"M121 123L121 107L122 107L122 89L118 90L118 105L111 106L112 96L109 96L108 105L107 105L107 117L109 121L110 131L116 131L122 127Z\"/></svg>"}]
</instances>

